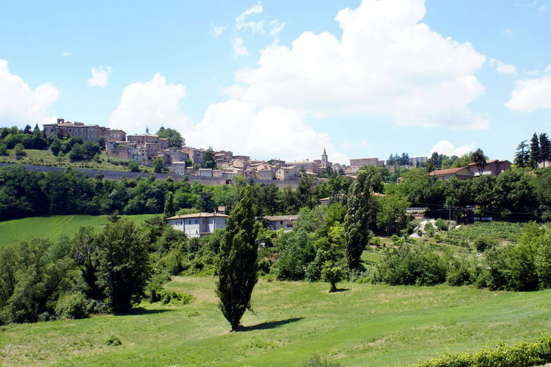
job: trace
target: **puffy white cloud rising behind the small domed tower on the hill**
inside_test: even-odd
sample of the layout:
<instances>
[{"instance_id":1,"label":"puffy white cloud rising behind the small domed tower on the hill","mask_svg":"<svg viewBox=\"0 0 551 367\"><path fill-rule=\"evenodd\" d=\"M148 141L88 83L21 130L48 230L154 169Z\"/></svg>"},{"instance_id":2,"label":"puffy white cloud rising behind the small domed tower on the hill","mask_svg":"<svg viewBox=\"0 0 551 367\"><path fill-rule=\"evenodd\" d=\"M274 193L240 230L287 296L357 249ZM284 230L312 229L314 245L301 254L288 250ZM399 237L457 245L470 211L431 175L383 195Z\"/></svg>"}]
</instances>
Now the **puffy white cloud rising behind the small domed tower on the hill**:
<instances>
[{"instance_id":1,"label":"puffy white cloud rising behind the small domed tower on the hill","mask_svg":"<svg viewBox=\"0 0 551 367\"><path fill-rule=\"evenodd\" d=\"M167 84L160 73L145 83L132 83L125 87L121 102L112 112L109 125L128 134L143 133L146 126L152 133L164 124L180 132L191 129L191 120L183 114L180 102L185 97L182 84Z\"/></svg>"}]
</instances>

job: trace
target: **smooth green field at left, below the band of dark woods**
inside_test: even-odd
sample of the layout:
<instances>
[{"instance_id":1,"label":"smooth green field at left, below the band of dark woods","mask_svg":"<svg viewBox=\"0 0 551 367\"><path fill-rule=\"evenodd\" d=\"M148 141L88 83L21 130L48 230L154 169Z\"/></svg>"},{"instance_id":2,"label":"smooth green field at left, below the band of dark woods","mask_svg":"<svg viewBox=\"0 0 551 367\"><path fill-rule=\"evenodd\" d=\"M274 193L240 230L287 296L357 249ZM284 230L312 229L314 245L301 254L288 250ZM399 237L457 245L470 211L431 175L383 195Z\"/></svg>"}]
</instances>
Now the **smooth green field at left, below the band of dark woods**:
<instances>
[{"instance_id":1,"label":"smooth green field at left, below the band of dark woods","mask_svg":"<svg viewBox=\"0 0 551 367\"><path fill-rule=\"evenodd\" d=\"M123 218L130 218L139 224L152 216L142 214ZM46 216L6 220L0 222L0 247L32 238L48 238L54 241L60 235L74 235L81 226L91 225L100 229L107 223L106 216Z\"/></svg>"}]
</instances>

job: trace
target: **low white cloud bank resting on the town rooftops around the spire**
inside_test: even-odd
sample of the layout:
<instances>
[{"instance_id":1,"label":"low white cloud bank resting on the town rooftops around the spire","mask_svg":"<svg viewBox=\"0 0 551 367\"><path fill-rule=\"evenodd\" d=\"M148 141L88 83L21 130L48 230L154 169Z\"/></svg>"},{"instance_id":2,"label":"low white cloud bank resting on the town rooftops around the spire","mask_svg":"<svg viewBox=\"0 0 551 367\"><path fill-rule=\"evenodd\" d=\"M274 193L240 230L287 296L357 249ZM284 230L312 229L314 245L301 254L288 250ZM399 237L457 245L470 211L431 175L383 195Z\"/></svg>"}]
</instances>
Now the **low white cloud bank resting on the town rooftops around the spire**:
<instances>
[{"instance_id":1,"label":"low white cloud bank resting on the town rooftops around the spire","mask_svg":"<svg viewBox=\"0 0 551 367\"><path fill-rule=\"evenodd\" d=\"M186 136L189 145L227 149L234 154L284 160L319 159L326 147L333 162L348 157L335 151L329 136L304 122L300 112L280 107L262 107L229 99L209 105L205 117Z\"/></svg>"}]
</instances>

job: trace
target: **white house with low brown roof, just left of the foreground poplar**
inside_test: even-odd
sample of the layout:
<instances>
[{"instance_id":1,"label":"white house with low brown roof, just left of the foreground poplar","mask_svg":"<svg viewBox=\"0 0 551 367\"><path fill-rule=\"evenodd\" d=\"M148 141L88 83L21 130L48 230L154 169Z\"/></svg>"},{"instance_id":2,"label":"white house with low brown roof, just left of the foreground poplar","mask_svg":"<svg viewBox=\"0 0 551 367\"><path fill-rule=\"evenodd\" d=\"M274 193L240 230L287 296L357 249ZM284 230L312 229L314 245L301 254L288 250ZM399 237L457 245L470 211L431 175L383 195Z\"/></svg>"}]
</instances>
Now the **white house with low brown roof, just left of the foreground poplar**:
<instances>
[{"instance_id":1,"label":"white house with low brown roof, just left of the foreground poplar","mask_svg":"<svg viewBox=\"0 0 551 367\"><path fill-rule=\"evenodd\" d=\"M205 237L215 229L226 227L228 216L221 213L195 213L167 218L167 224L188 237Z\"/></svg>"}]
</instances>

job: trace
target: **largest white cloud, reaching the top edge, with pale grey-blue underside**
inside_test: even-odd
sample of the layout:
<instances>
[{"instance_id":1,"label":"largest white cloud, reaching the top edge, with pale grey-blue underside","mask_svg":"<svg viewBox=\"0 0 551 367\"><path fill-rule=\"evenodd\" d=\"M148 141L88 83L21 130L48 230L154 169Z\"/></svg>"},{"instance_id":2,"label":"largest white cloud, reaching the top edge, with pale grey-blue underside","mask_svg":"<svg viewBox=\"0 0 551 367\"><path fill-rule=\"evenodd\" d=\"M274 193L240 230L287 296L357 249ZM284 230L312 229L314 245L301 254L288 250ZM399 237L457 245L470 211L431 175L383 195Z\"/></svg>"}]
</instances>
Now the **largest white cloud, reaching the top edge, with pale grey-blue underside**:
<instances>
[{"instance_id":1,"label":"largest white cloud, reaching the top edge, with pale grey-blue underside","mask_svg":"<svg viewBox=\"0 0 551 367\"><path fill-rule=\"evenodd\" d=\"M420 23L425 11L423 0L364 0L337 14L342 39L304 32L291 48L273 43L226 92L315 117L375 114L399 125L487 128L486 116L468 107L484 92L474 73L486 58Z\"/></svg>"}]
</instances>

